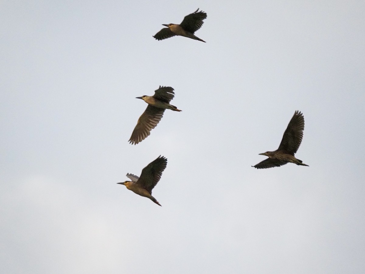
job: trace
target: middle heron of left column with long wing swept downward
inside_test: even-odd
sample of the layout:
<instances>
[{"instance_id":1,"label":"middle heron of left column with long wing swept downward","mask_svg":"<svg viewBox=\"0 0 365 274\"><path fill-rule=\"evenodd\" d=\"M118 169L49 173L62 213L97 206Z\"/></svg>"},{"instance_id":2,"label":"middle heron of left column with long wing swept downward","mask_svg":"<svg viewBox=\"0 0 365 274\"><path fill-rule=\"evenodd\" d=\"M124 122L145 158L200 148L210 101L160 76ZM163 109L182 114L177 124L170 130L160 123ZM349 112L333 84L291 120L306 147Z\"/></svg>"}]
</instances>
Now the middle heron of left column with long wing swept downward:
<instances>
[{"instance_id":1,"label":"middle heron of left column with long wing swept downward","mask_svg":"<svg viewBox=\"0 0 365 274\"><path fill-rule=\"evenodd\" d=\"M173 111L181 111L176 106L170 104L170 101L174 98L174 92L172 87L160 87L155 90L153 96L143 95L142 97L136 97L144 100L148 106L145 112L139 117L137 125L135 126L132 136L129 139L130 144L138 144L150 135L150 131L157 126L160 122L162 115L164 115L165 109Z\"/></svg>"}]
</instances>

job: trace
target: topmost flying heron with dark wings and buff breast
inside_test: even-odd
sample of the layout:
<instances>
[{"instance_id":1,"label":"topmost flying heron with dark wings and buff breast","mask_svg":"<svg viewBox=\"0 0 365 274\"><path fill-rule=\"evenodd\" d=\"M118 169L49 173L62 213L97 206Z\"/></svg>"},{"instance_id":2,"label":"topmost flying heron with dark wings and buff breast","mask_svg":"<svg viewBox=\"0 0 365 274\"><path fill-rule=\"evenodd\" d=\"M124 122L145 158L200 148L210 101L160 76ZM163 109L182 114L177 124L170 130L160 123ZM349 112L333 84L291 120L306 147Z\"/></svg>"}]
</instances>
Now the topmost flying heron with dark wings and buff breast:
<instances>
[{"instance_id":1,"label":"topmost flying heron with dark wings and buff breast","mask_svg":"<svg viewBox=\"0 0 365 274\"><path fill-rule=\"evenodd\" d=\"M204 11L198 11L199 8L192 14L185 16L183 22L181 22L180 25L162 24L162 26L166 26L167 28L162 28L162 30L156 33L153 37L157 40L162 40L175 35L180 35L205 43L204 40L201 40L194 35L195 31L199 30L199 28L203 25L203 20L207 18L207 14Z\"/></svg>"}]
</instances>

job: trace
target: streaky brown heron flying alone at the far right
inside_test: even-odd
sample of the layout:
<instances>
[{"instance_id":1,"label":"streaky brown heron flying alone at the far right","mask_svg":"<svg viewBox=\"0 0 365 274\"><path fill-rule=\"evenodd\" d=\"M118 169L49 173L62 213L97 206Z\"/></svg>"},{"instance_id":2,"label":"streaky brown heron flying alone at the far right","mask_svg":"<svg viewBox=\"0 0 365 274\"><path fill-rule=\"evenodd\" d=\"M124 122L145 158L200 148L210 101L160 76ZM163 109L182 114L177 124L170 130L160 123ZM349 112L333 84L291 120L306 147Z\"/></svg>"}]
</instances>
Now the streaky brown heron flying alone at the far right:
<instances>
[{"instance_id":1,"label":"streaky brown heron flying alone at the far right","mask_svg":"<svg viewBox=\"0 0 365 274\"><path fill-rule=\"evenodd\" d=\"M301 139L303 138L304 117L300 111L295 111L290 120L287 129L284 132L283 139L276 151L267 151L259 155L265 155L269 158L254 165L255 168L280 167L286 163L294 163L297 165L306 165L299 159L294 157L297 152ZM308 165L306 165L308 167Z\"/></svg>"}]
</instances>

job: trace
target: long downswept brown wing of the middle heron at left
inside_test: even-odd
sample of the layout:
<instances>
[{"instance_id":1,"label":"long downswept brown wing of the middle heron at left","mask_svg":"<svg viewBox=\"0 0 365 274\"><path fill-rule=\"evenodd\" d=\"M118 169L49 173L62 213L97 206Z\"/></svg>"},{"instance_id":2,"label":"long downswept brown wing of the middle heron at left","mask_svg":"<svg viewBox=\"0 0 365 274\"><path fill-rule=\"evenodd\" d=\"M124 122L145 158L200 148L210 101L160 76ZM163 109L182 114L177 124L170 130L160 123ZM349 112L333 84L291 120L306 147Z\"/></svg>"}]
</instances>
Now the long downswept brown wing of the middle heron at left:
<instances>
[{"instance_id":1,"label":"long downswept brown wing of the middle heron at left","mask_svg":"<svg viewBox=\"0 0 365 274\"><path fill-rule=\"evenodd\" d=\"M129 139L130 144L138 144L150 135L150 131L160 122L165 109L148 105L145 112L139 117L132 136Z\"/></svg>"}]
</instances>

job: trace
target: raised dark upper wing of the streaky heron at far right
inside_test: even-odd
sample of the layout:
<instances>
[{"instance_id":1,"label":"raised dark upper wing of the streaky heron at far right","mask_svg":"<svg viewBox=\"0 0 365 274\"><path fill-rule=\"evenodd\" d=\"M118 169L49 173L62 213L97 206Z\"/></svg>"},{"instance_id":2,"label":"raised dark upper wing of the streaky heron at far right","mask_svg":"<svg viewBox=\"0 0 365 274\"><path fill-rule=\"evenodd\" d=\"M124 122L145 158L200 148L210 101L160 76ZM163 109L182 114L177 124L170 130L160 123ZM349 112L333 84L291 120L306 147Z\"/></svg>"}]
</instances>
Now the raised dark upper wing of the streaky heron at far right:
<instances>
[{"instance_id":1,"label":"raised dark upper wing of the streaky heron at far right","mask_svg":"<svg viewBox=\"0 0 365 274\"><path fill-rule=\"evenodd\" d=\"M300 111L295 111L290 120L287 129L284 132L283 139L277 150L285 153L294 154L297 152L303 138L304 117Z\"/></svg>"}]
</instances>

